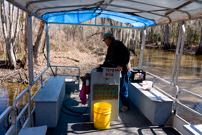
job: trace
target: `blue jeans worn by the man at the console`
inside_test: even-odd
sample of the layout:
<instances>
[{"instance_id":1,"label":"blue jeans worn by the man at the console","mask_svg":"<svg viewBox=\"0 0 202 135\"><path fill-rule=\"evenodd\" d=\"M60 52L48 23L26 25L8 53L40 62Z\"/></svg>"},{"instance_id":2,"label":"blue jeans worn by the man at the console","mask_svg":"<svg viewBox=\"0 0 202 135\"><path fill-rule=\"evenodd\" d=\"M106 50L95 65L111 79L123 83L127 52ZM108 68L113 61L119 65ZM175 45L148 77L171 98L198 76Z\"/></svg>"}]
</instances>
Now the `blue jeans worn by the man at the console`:
<instances>
[{"instance_id":1,"label":"blue jeans worn by the man at the console","mask_svg":"<svg viewBox=\"0 0 202 135\"><path fill-rule=\"evenodd\" d=\"M120 97L123 106L129 106L128 100L128 78L130 77L131 71L122 72L122 79L120 82Z\"/></svg>"}]
</instances>

